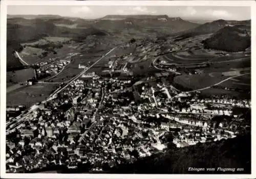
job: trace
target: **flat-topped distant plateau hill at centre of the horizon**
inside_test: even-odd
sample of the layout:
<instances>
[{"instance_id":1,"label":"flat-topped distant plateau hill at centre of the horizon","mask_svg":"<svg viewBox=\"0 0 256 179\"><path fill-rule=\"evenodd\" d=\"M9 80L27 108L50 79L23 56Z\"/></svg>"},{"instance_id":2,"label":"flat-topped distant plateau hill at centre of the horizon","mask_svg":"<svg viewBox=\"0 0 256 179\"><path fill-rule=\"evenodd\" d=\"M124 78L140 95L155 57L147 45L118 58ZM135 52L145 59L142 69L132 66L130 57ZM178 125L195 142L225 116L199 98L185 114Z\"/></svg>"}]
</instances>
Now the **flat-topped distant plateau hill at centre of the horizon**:
<instances>
[{"instance_id":1,"label":"flat-topped distant plateau hill at centre of the horizon","mask_svg":"<svg viewBox=\"0 0 256 179\"><path fill-rule=\"evenodd\" d=\"M199 24L183 20L180 17L168 17L167 15L108 15L97 19L93 25L102 30L134 29L138 33L145 32L145 30L159 33L177 33L193 29ZM83 27L83 24L79 24L79 27Z\"/></svg>"}]
</instances>

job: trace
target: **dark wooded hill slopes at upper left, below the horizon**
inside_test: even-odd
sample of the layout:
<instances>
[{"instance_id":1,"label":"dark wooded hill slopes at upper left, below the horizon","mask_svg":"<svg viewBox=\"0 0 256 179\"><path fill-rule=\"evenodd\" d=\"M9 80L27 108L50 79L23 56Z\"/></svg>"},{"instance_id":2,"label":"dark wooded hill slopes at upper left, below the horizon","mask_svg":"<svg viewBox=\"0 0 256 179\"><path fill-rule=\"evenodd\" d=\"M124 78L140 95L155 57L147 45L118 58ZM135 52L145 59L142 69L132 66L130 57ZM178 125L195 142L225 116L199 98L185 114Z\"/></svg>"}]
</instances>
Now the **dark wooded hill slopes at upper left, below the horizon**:
<instances>
[{"instance_id":1,"label":"dark wooded hill slopes at upper left, below the horizon","mask_svg":"<svg viewBox=\"0 0 256 179\"><path fill-rule=\"evenodd\" d=\"M41 17L41 16L39 16ZM48 17L48 16L47 16ZM20 63L12 55L13 50L20 49L20 43L34 42L44 37L69 37L82 40L88 35L107 35L106 31L94 27L79 29L59 27L55 23L70 24L71 20L53 16L51 19L12 17L7 20L7 66L17 66Z\"/></svg>"}]
</instances>

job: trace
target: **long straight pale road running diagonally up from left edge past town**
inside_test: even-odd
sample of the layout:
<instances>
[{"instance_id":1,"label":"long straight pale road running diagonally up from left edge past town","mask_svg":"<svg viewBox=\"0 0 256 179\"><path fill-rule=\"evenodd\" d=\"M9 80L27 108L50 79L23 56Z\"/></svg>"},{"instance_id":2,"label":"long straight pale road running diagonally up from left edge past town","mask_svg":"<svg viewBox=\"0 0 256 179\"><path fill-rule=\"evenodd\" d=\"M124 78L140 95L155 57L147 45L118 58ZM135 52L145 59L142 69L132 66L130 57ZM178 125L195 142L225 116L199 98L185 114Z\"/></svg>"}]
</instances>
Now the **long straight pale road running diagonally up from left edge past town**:
<instances>
[{"instance_id":1,"label":"long straight pale road running diagonally up from left edge past town","mask_svg":"<svg viewBox=\"0 0 256 179\"><path fill-rule=\"evenodd\" d=\"M108 55L108 54L110 54L114 49L115 49L116 47L114 47L114 48L112 48L108 53L106 53L105 55L103 55L100 59L98 59L95 63L93 63L90 67L88 67L87 69L84 69L82 72L80 72L78 75L76 75L73 79L71 79L70 80L70 82L67 84L67 85L65 85L64 87L62 87L62 88L58 88L55 92L53 92L45 101L43 101L42 103L45 103L46 101L48 101L48 100L51 100L51 99L53 99L55 96L54 95L56 95L57 93L59 93L59 92L61 92L63 89L65 89L65 88L67 88L71 83L73 83L75 80L77 80L84 72L86 72L86 71L88 71L90 68L92 68L95 64L97 64L100 60L102 60L106 55ZM14 130L14 129L16 129L16 127L18 126L18 125L20 125L21 123L23 123L24 121L26 121L26 120L29 120L29 118L31 117L30 116L30 113L32 112L32 111L35 111L35 110L37 110L39 107L38 106L35 106L34 108L31 108L29 111L28 111L28 113L26 113L26 114L23 114L23 116L22 115L19 115L19 116L17 116L17 117L15 117L15 118L13 118L13 119L11 119L11 121L8 121L7 122L7 125L9 124L9 125L11 125L11 126L9 126L9 127L7 127L7 134L9 133L8 131L11 131L11 130ZM20 117L20 118L19 118Z\"/></svg>"}]
</instances>

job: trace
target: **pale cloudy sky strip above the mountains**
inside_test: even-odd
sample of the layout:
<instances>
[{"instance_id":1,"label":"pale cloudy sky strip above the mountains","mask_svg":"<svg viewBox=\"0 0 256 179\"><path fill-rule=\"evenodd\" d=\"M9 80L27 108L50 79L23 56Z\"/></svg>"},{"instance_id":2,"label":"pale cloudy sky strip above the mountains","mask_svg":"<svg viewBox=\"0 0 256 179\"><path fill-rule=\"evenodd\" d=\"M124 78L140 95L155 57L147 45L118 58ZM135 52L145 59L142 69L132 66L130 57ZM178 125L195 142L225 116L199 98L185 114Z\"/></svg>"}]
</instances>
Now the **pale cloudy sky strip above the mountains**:
<instances>
[{"instance_id":1,"label":"pale cloudy sky strip above the mountains","mask_svg":"<svg viewBox=\"0 0 256 179\"><path fill-rule=\"evenodd\" d=\"M105 15L168 15L183 19L250 19L250 7L216 6L8 6L7 14L52 14L80 18L100 18Z\"/></svg>"}]
</instances>

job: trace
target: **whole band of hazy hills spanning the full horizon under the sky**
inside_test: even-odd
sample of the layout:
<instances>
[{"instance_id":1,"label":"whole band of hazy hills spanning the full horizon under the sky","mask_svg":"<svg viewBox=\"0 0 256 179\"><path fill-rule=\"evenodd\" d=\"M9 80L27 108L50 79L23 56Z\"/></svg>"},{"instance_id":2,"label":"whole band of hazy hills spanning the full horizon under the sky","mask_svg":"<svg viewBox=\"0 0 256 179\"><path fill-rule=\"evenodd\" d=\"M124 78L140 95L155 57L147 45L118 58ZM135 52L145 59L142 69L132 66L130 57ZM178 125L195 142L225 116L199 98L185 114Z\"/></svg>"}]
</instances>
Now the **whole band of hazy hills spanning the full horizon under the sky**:
<instances>
[{"instance_id":1,"label":"whole band of hazy hills spanning the full horizon under the sky","mask_svg":"<svg viewBox=\"0 0 256 179\"><path fill-rule=\"evenodd\" d=\"M13 58L11 54L20 47L20 43L37 41L47 36L82 40L88 35L104 36L118 33L122 35L122 32L132 31L135 36L154 33L160 36L176 34L187 38L215 33L228 24L250 26L250 20L215 20L198 24L167 15L107 15L98 19L59 15L8 15L7 17L7 65L16 63L11 60Z\"/></svg>"}]
</instances>

